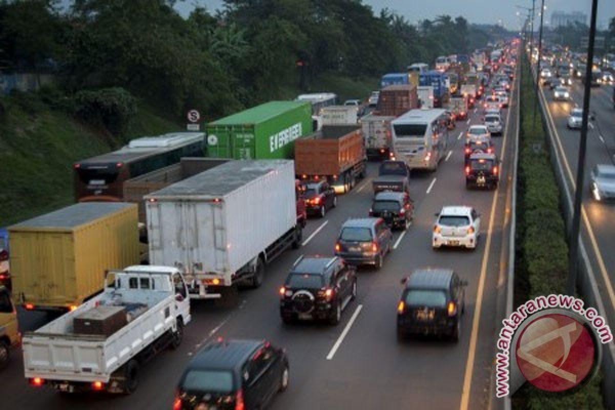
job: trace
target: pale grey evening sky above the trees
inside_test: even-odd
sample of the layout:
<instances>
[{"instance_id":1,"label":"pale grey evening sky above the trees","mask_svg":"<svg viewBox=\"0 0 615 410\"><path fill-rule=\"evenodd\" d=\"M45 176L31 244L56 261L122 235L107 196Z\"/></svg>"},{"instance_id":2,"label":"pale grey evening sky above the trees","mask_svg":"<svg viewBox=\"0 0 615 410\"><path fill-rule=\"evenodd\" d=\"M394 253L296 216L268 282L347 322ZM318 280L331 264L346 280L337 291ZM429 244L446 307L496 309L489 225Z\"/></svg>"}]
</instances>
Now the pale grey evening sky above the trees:
<instances>
[{"instance_id":1,"label":"pale grey evening sky above the trees","mask_svg":"<svg viewBox=\"0 0 615 410\"><path fill-rule=\"evenodd\" d=\"M536 10L540 8L541 0L536 0ZM194 5L204 6L213 11L221 7L221 0L185 0L178 2L177 9L182 15L188 15ZM384 7L397 11L410 22L416 23L425 18L433 19L441 14L451 17L459 15L470 23L502 24L509 30L518 30L522 24L517 12L526 10L515 6L531 7L531 0L363 0L363 4L371 6L376 14ZM545 22L549 21L554 11L580 11L587 14L587 23L591 14L591 0L545 0L547 7ZM540 23L536 12L536 24ZM598 0L598 29L606 30L611 17L615 16L615 0Z\"/></svg>"}]
</instances>

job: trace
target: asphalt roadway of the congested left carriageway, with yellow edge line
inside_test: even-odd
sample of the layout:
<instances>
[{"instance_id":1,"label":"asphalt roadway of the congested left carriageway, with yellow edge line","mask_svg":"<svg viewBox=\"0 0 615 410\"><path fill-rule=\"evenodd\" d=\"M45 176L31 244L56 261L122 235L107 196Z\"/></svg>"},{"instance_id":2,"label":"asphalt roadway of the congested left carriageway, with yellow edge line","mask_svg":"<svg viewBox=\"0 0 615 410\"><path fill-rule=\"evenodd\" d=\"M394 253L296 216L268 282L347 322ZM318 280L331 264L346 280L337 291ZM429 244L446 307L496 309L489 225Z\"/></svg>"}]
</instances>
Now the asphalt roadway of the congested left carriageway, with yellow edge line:
<instances>
[{"instance_id":1,"label":"asphalt roadway of the congested left carriageway, with yellow edge line","mask_svg":"<svg viewBox=\"0 0 615 410\"><path fill-rule=\"evenodd\" d=\"M239 306L221 309L211 302L193 303L192 323L186 328L183 345L143 366L140 387L133 395L66 396L50 388L30 387L23 379L20 352L14 350L9 368L2 373L2 407L170 409L175 384L199 346L212 337L240 337L268 339L287 349L290 387L277 396L273 409L490 408L490 377L499 332L497 304L504 303L496 299L498 289L506 287L506 266L501 261L507 261L505 227L510 211L507 201L512 147L517 133L516 90L505 114L507 111L511 114L506 122L506 135L494 137L498 152L504 153L498 190L467 191L465 187L461 135L469 124L480 122L480 112L474 112L468 122L458 122L451 132L451 152L447 152L438 170L413 173L415 224L407 232L395 232L395 249L385 259L381 271L359 270L358 297L343 312L338 326L283 325L277 290L300 254L332 254L344 221L367 216L376 163L369 164L365 181L339 197L337 208L323 219L309 220L303 235L304 246L273 262L261 288L240 292ZM609 125L605 123L604 127ZM471 205L481 213L481 237L475 251L432 250L434 213L443 205ZM615 260L609 259L609 263ZM433 338L397 342L395 337L396 307L402 291L400 279L415 268L427 266L453 268L469 282L458 344ZM44 320L36 313L23 312L20 319L25 329L34 329Z\"/></svg>"}]
</instances>

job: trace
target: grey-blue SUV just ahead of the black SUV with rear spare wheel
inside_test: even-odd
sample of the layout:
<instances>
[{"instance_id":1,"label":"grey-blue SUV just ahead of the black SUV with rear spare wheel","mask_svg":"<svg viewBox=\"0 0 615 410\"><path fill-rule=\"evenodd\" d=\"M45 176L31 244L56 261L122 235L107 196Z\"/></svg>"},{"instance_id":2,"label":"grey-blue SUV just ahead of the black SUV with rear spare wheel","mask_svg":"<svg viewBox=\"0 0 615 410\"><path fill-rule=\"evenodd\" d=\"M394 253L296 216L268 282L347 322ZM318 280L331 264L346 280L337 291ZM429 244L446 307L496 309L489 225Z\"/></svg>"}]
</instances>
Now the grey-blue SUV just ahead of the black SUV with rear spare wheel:
<instances>
[{"instance_id":1,"label":"grey-blue SUV just ahead of the black SUV with rear spare wheel","mask_svg":"<svg viewBox=\"0 0 615 410\"><path fill-rule=\"evenodd\" d=\"M383 218L349 219L339 232L335 254L349 264L383 267L384 256L391 251L393 234Z\"/></svg>"}]
</instances>

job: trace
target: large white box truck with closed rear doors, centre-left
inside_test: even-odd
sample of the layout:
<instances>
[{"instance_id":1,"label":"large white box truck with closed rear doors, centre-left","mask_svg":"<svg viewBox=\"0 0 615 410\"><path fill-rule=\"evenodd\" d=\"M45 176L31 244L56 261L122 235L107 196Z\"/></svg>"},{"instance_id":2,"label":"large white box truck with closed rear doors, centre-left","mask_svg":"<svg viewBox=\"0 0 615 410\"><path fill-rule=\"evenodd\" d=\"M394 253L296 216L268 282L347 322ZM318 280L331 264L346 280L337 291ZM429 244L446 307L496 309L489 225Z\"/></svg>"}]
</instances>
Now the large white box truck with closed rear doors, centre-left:
<instances>
[{"instance_id":1,"label":"large white box truck with closed rear doors, centre-left","mask_svg":"<svg viewBox=\"0 0 615 410\"><path fill-rule=\"evenodd\" d=\"M146 195L149 262L175 266L195 299L237 301L301 245L292 160L237 160Z\"/></svg>"}]
</instances>

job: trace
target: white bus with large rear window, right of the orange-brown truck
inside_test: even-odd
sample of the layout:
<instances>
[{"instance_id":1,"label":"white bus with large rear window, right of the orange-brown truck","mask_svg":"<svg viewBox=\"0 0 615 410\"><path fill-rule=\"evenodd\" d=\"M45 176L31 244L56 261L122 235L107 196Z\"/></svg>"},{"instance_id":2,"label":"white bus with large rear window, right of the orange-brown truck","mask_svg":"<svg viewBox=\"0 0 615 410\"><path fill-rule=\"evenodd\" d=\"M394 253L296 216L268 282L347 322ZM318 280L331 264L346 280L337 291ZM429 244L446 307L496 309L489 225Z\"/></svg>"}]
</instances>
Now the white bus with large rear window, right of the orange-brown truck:
<instances>
[{"instance_id":1,"label":"white bus with large rear window, right of the orange-brown truck","mask_svg":"<svg viewBox=\"0 0 615 410\"><path fill-rule=\"evenodd\" d=\"M448 147L444 109L411 109L391 122L393 153L408 168L435 171Z\"/></svg>"}]
</instances>

